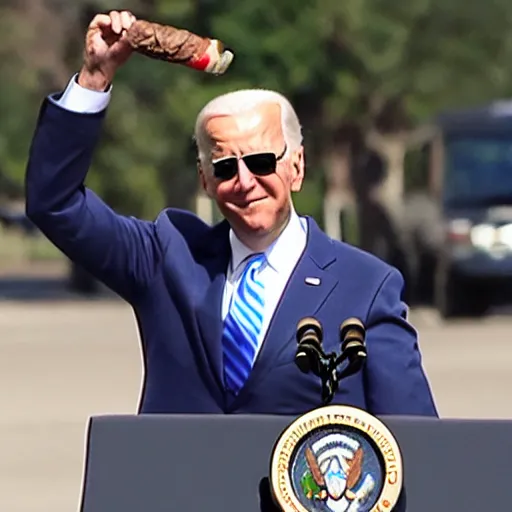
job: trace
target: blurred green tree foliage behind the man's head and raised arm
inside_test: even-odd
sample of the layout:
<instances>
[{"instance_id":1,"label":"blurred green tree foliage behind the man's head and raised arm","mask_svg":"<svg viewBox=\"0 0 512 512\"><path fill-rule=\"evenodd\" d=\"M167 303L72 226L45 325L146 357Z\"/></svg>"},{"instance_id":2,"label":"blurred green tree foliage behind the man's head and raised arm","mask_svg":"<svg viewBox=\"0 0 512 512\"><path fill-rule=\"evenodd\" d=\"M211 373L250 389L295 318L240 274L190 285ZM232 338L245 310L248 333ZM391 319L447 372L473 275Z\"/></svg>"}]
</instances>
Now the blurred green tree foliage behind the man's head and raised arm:
<instances>
[{"instance_id":1,"label":"blurred green tree foliage behind the man's head and raised arm","mask_svg":"<svg viewBox=\"0 0 512 512\"><path fill-rule=\"evenodd\" d=\"M21 186L43 96L78 70L94 13L118 6L26 0L0 7L4 179ZM411 129L439 109L512 88L506 0L126 0L123 8L217 37L236 52L222 77L141 56L119 73L89 184L115 208L144 217L166 204L191 207L194 120L219 93L264 87L290 97L308 151L300 204L319 215L324 155L344 143L347 128Z\"/></svg>"}]
</instances>

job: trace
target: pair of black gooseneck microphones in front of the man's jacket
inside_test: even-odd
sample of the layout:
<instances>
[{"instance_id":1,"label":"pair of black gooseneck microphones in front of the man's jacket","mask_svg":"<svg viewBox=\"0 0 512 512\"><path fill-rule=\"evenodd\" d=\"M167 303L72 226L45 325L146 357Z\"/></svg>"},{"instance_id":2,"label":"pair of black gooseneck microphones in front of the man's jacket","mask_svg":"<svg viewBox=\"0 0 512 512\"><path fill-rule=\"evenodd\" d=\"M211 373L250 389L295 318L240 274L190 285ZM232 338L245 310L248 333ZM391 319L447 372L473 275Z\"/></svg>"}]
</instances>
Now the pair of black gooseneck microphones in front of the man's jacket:
<instances>
[{"instance_id":1,"label":"pair of black gooseneck microphones in front of the man's jacket","mask_svg":"<svg viewBox=\"0 0 512 512\"><path fill-rule=\"evenodd\" d=\"M358 318L348 318L339 328L341 350L326 354L322 348L323 329L313 317L306 317L297 324L297 351L295 364L302 373L313 373L322 381L322 402L334 398L339 381L361 370L366 361L366 329ZM343 368L339 368L343 366Z\"/></svg>"}]
</instances>

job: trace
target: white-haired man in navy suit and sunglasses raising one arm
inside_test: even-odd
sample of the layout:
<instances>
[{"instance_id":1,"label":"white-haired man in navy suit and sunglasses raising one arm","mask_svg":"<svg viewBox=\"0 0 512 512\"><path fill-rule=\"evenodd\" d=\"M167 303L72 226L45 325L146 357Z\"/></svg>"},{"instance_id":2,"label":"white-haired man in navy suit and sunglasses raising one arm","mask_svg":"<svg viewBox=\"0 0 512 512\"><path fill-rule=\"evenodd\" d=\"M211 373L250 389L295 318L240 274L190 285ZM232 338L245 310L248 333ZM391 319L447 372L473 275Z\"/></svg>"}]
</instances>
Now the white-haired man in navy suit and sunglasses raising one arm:
<instances>
[{"instance_id":1,"label":"white-haired man in navy suit and sunglasses raising one arm","mask_svg":"<svg viewBox=\"0 0 512 512\"><path fill-rule=\"evenodd\" d=\"M334 402L435 416L399 272L293 208L301 128L278 93L236 91L199 114L200 179L226 218L216 226L172 208L155 222L123 217L84 186L133 21L111 12L91 22L80 73L44 101L26 190L43 233L133 307L140 412L302 413L320 404L320 383L294 364L297 322L315 316L330 350L340 323L356 316L367 327L367 364Z\"/></svg>"}]
</instances>

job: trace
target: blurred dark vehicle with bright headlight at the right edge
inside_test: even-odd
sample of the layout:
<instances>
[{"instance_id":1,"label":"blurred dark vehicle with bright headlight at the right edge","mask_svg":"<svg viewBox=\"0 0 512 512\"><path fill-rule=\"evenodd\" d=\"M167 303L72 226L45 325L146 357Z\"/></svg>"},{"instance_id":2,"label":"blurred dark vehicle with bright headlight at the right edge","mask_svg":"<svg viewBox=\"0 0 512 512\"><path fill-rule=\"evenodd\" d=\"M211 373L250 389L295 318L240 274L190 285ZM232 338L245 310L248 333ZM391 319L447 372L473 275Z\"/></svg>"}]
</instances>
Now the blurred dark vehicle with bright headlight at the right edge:
<instances>
[{"instance_id":1,"label":"blurred dark vehicle with bright headlight at the right edge","mask_svg":"<svg viewBox=\"0 0 512 512\"><path fill-rule=\"evenodd\" d=\"M419 252L435 262L443 317L483 315L512 297L512 102L447 112L437 125L427 152L437 213L423 219ZM439 227L436 243L425 243Z\"/></svg>"}]
</instances>

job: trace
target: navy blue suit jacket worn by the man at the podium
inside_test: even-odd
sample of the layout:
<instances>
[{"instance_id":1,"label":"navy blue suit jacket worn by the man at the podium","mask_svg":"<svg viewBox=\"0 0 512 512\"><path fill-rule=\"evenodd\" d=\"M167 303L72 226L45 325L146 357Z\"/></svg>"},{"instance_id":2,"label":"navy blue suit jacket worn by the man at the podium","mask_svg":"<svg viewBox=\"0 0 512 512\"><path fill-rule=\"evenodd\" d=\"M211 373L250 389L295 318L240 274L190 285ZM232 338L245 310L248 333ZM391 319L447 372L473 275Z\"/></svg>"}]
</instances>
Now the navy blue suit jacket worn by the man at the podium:
<instances>
[{"instance_id":1,"label":"navy blue suit jacket worn by the man at the podium","mask_svg":"<svg viewBox=\"0 0 512 512\"><path fill-rule=\"evenodd\" d=\"M294 364L297 322L318 318L325 348L334 350L340 323L355 316L367 327L368 361L363 372L342 382L335 403L373 414L437 415L416 332L400 300L401 275L331 240L311 218L305 252L254 369L238 397L230 398L221 347L229 226L210 227L172 208L154 222L124 217L86 188L104 116L68 112L45 100L27 167L27 214L69 258L133 307L144 355L141 413L300 414L314 408L319 380ZM308 285L306 277L321 284Z\"/></svg>"}]
</instances>

